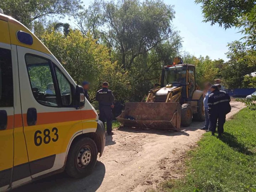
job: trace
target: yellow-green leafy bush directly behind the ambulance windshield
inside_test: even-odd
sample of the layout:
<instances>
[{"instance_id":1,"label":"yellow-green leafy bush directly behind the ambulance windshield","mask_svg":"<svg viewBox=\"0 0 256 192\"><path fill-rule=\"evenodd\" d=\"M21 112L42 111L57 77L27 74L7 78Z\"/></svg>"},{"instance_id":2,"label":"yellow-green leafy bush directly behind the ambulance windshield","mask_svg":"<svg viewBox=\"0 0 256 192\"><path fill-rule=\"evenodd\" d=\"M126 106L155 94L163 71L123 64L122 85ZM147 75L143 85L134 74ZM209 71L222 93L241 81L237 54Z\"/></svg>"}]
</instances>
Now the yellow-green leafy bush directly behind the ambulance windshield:
<instances>
[{"instance_id":1,"label":"yellow-green leafy bush directly behind the ambulance windshield","mask_svg":"<svg viewBox=\"0 0 256 192\"><path fill-rule=\"evenodd\" d=\"M70 30L65 36L53 30L51 33L46 32L42 41L76 83L81 84L84 80L91 82L89 94L92 102L104 81L109 82L117 100L129 98L128 72L116 62L111 63L107 47L97 44L90 34L85 37L78 30Z\"/></svg>"}]
</instances>

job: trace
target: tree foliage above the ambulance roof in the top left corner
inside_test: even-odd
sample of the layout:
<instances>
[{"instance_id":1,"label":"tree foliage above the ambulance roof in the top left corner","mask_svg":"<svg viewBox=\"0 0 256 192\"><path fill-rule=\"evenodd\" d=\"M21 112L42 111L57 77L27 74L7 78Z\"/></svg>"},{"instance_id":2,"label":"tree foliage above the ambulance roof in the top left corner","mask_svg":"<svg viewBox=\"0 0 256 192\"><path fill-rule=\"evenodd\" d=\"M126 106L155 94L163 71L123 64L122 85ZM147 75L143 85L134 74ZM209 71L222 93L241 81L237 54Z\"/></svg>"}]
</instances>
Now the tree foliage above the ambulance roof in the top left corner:
<instances>
[{"instance_id":1,"label":"tree foliage above the ambulance roof in the top left corner","mask_svg":"<svg viewBox=\"0 0 256 192\"><path fill-rule=\"evenodd\" d=\"M4 0L0 1L4 14L14 17L28 28L38 18L72 15L81 8L80 0Z\"/></svg>"}]
</instances>

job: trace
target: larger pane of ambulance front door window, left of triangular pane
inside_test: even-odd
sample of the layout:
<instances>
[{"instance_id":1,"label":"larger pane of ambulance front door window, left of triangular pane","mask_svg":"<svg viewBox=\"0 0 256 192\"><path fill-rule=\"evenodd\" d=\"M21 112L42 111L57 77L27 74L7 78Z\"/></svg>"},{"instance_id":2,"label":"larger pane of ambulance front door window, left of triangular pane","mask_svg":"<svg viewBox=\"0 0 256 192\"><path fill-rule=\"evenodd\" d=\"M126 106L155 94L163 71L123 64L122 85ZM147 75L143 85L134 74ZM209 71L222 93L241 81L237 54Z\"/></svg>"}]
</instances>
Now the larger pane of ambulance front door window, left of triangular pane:
<instances>
[{"instance_id":1,"label":"larger pane of ambulance front door window, left of triangular pane","mask_svg":"<svg viewBox=\"0 0 256 192\"><path fill-rule=\"evenodd\" d=\"M58 106L50 61L36 55L25 55L34 98L42 105Z\"/></svg>"}]
</instances>

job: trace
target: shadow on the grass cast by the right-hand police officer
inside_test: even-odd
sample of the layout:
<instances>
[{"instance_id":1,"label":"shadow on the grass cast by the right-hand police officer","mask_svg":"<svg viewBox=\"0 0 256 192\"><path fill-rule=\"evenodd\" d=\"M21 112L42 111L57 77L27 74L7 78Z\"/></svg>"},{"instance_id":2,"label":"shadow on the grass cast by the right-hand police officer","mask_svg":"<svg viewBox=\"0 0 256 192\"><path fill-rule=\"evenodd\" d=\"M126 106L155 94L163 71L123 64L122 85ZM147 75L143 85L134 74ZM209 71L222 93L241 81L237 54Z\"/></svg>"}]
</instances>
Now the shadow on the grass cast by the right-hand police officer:
<instances>
[{"instance_id":1,"label":"shadow on the grass cast by the right-hand police officer","mask_svg":"<svg viewBox=\"0 0 256 192\"><path fill-rule=\"evenodd\" d=\"M230 133L224 132L220 140L222 140L228 146L230 146L234 150L237 150L240 153L243 153L245 155L253 155L252 151L250 151L244 144L238 142L236 137L234 137L234 135Z\"/></svg>"}]
</instances>

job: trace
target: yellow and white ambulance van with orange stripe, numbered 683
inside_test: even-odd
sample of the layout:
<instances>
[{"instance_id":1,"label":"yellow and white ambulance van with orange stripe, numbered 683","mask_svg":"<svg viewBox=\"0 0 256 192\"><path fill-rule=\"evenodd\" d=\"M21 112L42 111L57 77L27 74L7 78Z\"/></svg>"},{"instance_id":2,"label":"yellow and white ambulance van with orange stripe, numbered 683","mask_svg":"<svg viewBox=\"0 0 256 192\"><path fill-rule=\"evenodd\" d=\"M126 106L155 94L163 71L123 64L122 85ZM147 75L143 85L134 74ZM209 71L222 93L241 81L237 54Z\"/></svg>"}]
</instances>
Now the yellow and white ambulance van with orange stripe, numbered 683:
<instances>
[{"instance_id":1,"label":"yellow and white ambulance van with orange stripe, numbered 683","mask_svg":"<svg viewBox=\"0 0 256 192\"><path fill-rule=\"evenodd\" d=\"M0 13L0 191L64 170L84 177L104 148L83 88L30 30Z\"/></svg>"}]
</instances>

